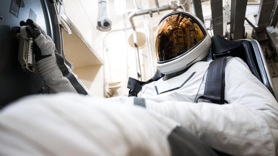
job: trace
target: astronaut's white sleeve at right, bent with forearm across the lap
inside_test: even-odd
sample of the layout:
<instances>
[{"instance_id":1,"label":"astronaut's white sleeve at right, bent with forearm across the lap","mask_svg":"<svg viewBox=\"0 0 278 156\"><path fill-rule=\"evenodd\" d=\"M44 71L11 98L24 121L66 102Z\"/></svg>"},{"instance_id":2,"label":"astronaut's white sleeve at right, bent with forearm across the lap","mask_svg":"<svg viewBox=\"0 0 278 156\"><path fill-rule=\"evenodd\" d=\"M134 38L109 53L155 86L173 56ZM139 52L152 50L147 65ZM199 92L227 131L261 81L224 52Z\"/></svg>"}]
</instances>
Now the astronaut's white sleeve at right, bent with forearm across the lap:
<instances>
[{"instance_id":1,"label":"astronaut's white sleeve at right, bent with forearm across the lap","mask_svg":"<svg viewBox=\"0 0 278 156\"><path fill-rule=\"evenodd\" d=\"M134 104L179 122L213 148L231 155L277 155L278 104L237 59L225 70L229 104L135 99Z\"/></svg>"}]
</instances>

